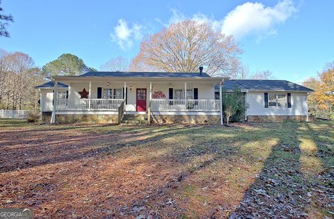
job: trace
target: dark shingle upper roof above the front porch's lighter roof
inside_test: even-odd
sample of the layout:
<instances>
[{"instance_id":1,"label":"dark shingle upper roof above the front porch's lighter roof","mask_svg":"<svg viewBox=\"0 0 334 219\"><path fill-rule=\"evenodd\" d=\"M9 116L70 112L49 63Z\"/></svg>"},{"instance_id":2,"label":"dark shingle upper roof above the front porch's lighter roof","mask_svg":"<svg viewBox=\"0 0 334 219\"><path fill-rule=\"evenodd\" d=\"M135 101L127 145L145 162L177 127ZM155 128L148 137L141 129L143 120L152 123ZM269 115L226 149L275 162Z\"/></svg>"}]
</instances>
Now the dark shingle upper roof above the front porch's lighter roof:
<instances>
[{"instance_id":1,"label":"dark shingle upper roof above the front porch's lighter roof","mask_svg":"<svg viewBox=\"0 0 334 219\"><path fill-rule=\"evenodd\" d=\"M157 77L157 78L210 78L209 74L200 72L87 72L80 76L117 76L117 77Z\"/></svg>"}]
</instances>

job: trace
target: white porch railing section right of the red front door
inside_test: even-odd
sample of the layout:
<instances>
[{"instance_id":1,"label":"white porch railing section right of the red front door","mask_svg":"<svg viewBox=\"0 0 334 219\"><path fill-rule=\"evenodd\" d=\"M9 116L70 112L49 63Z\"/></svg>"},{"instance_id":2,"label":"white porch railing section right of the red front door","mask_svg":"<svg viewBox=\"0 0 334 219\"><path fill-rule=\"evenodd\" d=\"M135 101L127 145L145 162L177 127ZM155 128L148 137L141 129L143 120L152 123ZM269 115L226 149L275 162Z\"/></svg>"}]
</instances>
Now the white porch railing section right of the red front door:
<instances>
[{"instance_id":1,"label":"white porch railing section right of the red front door","mask_svg":"<svg viewBox=\"0 0 334 219\"><path fill-rule=\"evenodd\" d=\"M220 111L218 99L152 99L151 111Z\"/></svg>"}]
</instances>

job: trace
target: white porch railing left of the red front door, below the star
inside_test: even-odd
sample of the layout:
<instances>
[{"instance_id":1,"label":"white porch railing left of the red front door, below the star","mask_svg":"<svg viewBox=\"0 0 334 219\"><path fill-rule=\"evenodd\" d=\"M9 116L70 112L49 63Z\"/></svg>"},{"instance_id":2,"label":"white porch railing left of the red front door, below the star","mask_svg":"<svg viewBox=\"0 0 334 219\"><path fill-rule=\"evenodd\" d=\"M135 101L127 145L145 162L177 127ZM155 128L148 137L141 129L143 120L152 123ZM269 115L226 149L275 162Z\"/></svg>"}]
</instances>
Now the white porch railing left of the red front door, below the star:
<instances>
[{"instance_id":1,"label":"white porch railing left of the red front door, below the star","mask_svg":"<svg viewBox=\"0 0 334 219\"><path fill-rule=\"evenodd\" d=\"M57 99L56 111L118 111L124 99Z\"/></svg>"}]
</instances>

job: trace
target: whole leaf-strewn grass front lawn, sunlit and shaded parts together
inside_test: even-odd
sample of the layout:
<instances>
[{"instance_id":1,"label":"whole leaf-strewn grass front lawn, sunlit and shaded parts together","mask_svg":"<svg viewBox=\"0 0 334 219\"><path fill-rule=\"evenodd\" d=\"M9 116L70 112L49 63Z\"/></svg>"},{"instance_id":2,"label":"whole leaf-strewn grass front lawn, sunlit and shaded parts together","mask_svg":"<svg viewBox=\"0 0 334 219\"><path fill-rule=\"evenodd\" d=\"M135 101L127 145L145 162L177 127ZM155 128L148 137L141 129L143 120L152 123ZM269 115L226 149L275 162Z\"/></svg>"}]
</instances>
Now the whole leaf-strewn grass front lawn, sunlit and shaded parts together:
<instances>
[{"instance_id":1,"label":"whole leaf-strewn grass front lawn, sunlit and shaded parts together","mask_svg":"<svg viewBox=\"0 0 334 219\"><path fill-rule=\"evenodd\" d=\"M334 122L0 120L0 208L38 218L333 218Z\"/></svg>"}]
</instances>

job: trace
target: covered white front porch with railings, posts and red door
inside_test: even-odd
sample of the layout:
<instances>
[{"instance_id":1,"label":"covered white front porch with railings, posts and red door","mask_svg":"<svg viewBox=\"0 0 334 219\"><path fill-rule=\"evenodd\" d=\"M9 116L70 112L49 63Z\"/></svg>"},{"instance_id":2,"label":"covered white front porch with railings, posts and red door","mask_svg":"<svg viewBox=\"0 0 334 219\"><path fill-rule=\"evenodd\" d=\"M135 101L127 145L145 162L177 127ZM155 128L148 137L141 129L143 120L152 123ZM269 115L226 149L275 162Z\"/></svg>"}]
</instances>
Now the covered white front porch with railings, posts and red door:
<instances>
[{"instance_id":1,"label":"covered white front porch with railings, posts and red door","mask_svg":"<svg viewBox=\"0 0 334 219\"><path fill-rule=\"evenodd\" d=\"M126 114L220 115L215 99L219 79L56 79L67 84L66 93L54 83L51 121L56 115L115 115L118 123ZM217 94L216 94L217 96Z\"/></svg>"}]
</instances>

